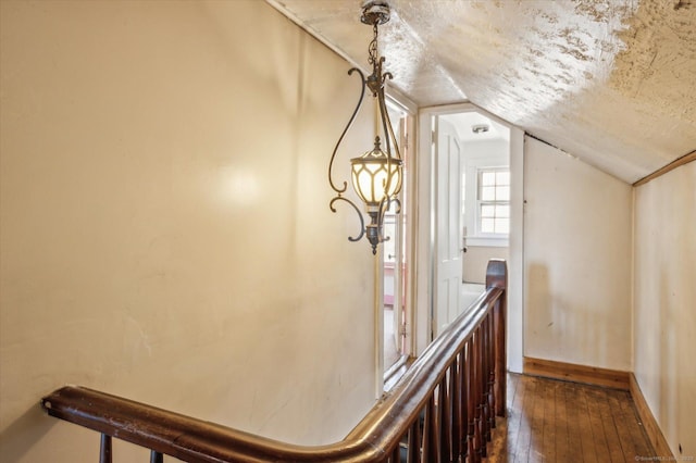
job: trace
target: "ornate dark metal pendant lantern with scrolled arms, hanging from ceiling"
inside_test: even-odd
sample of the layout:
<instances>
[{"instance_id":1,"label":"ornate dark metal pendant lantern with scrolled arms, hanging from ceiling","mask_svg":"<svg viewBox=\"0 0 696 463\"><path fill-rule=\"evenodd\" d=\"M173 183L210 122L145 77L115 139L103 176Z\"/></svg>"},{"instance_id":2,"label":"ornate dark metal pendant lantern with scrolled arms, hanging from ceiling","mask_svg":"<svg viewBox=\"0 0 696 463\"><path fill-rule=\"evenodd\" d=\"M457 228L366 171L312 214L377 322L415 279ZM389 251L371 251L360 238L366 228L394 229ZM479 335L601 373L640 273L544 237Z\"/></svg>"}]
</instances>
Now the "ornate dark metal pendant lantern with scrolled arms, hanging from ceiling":
<instances>
[{"instance_id":1,"label":"ornate dark metal pendant lantern with scrolled arms, hanging from ceiling","mask_svg":"<svg viewBox=\"0 0 696 463\"><path fill-rule=\"evenodd\" d=\"M373 39L368 49L368 63L372 65L372 74L365 77L362 71L357 67L348 71L348 75L357 73L360 76L360 99L346 128L336 142L328 163L328 183L336 192L328 205L332 212L336 212L336 202L345 201L356 210L360 218L360 233L355 237L348 237L348 240L359 241L363 236L366 236L372 246L373 254L377 253L377 245L388 239L382 233L385 214L390 209L397 214L401 210L398 195L401 191L402 161L384 97L386 80L393 78L393 76L388 72L382 72L382 64L385 58L378 55L377 49L377 28L389 21L389 5L384 1L370 1L363 5L360 21L372 26L373 29ZM344 182L341 187L337 187L332 176L336 152L362 105L365 87L370 89L372 96L376 99L377 117L380 120L377 132L381 132L384 137L380 138L380 134L376 134L373 148L363 155L350 160L352 187L362 202L364 202L364 210L370 217L370 223L366 225L360 208L344 196L348 189L348 183Z\"/></svg>"}]
</instances>

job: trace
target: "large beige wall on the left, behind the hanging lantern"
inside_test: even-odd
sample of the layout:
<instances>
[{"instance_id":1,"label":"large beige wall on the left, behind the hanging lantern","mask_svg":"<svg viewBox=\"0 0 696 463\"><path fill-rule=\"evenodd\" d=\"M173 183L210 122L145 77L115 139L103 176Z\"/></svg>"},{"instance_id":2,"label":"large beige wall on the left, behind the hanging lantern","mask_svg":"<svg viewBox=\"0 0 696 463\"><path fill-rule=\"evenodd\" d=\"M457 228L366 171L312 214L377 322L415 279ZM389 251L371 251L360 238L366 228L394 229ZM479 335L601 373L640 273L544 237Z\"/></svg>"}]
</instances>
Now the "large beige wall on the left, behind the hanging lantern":
<instances>
[{"instance_id":1,"label":"large beige wall on the left, behind the hanging lantern","mask_svg":"<svg viewBox=\"0 0 696 463\"><path fill-rule=\"evenodd\" d=\"M349 65L256 0L0 4L0 460L94 461L39 410L65 384L340 439L375 384Z\"/></svg>"}]
</instances>

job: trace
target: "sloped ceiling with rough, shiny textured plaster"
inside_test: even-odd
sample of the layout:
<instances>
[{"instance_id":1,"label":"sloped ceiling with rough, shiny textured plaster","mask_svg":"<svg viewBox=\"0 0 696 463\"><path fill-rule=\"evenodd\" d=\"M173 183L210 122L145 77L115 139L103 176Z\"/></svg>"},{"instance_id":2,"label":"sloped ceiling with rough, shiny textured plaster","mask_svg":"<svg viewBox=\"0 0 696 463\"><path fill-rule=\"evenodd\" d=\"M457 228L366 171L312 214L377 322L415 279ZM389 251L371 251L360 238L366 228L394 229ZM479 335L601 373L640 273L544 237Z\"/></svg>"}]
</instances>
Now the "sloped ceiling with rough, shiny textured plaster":
<instances>
[{"instance_id":1,"label":"sloped ceiling with rough, shiny textured plaster","mask_svg":"<svg viewBox=\"0 0 696 463\"><path fill-rule=\"evenodd\" d=\"M269 0L366 67L361 0ZM696 150L696 0L390 0L380 48L420 107L469 100L633 183Z\"/></svg>"}]
</instances>

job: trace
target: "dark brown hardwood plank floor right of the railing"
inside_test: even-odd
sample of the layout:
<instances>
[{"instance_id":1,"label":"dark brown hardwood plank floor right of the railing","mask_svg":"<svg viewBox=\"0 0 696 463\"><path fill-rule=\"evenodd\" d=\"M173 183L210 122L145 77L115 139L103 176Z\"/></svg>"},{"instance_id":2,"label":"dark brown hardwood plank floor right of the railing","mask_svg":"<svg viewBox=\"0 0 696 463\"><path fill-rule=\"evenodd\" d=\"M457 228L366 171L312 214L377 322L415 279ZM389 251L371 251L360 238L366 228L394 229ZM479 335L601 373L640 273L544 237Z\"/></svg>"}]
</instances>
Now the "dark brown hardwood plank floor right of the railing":
<instances>
[{"instance_id":1,"label":"dark brown hardwood plank floor right of the railing","mask_svg":"<svg viewBox=\"0 0 696 463\"><path fill-rule=\"evenodd\" d=\"M635 462L655 455L623 390L509 374L508 418L497 423L489 462Z\"/></svg>"}]
</instances>

